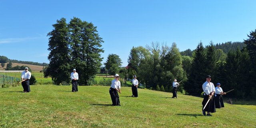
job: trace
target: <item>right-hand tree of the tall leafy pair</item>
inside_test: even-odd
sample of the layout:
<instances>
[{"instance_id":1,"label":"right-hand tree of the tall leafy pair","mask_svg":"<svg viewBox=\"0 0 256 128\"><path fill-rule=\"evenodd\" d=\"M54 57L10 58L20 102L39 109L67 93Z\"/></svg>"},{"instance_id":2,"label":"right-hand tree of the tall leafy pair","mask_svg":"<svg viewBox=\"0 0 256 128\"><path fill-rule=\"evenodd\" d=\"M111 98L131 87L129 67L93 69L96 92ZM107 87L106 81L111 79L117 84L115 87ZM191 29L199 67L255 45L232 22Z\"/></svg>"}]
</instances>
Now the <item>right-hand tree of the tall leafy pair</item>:
<instances>
[{"instance_id":1,"label":"right-hand tree of the tall leafy pair","mask_svg":"<svg viewBox=\"0 0 256 128\"><path fill-rule=\"evenodd\" d=\"M104 52L101 43L104 41L99 36L97 27L92 23L73 18L68 25L70 28L70 44L72 51L72 67L77 68L79 84L88 85L88 80L100 70L100 53Z\"/></svg>"}]
</instances>

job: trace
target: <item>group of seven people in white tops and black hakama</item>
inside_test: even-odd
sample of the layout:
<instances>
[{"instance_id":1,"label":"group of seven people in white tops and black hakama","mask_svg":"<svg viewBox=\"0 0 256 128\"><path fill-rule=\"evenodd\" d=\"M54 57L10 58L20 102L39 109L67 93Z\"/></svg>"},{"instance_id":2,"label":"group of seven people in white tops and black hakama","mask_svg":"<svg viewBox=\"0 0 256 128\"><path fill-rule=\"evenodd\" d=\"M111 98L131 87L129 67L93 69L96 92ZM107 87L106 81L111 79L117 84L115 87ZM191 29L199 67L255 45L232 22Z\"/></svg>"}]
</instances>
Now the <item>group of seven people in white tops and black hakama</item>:
<instances>
[{"instance_id":1,"label":"group of seven people in white tops and black hakama","mask_svg":"<svg viewBox=\"0 0 256 128\"><path fill-rule=\"evenodd\" d=\"M29 79L31 77L31 73L28 71L28 68L25 68L25 71L22 72L21 78L22 78L22 87L24 92L30 92L30 85L29 85ZM76 69L73 69L73 72L70 74L70 78L72 80L72 92L77 92L77 81L78 81L78 73L76 72ZM112 106L121 106L118 92L121 93L121 83L118 80L119 75L115 75L115 79L112 80L111 86L109 88L109 94L112 100ZM138 97L138 80L136 79L137 76L134 76L132 79L132 97ZM226 94L226 92L223 92L222 88L220 87L220 83L216 84L216 87L214 87L214 84L211 81L211 76L206 76L206 82L202 85L202 88L204 90L204 100L202 102L203 108L202 113L204 116L212 116L210 113L216 112L216 108L222 108L224 107L222 95ZM177 98L177 88L180 85L180 83L177 82L176 79L174 79L174 82L172 83L172 91L173 96L172 98ZM209 101L208 101L209 100ZM207 114L206 114L207 112Z\"/></svg>"}]
</instances>

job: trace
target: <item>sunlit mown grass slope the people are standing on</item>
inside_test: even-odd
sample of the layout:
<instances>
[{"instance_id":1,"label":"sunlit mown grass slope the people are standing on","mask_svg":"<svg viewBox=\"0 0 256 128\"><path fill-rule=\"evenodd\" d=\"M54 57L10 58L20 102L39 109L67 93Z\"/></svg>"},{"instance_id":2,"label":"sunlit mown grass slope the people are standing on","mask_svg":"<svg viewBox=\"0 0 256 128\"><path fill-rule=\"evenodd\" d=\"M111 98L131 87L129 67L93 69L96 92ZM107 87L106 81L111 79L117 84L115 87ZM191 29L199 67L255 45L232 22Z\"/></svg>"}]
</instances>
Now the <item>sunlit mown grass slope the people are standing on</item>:
<instances>
[{"instance_id":1,"label":"sunlit mown grass slope the people are standing on","mask_svg":"<svg viewBox=\"0 0 256 128\"><path fill-rule=\"evenodd\" d=\"M130 87L122 87L120 103L112 104L109 86L21 86L0 88L1 128L255 128L256 106L226 104L212 117L202 116L202 98L146 89L138 89L138 98ZM233 101L234 102L234 101Z\"/></svg>"}]
</instances>

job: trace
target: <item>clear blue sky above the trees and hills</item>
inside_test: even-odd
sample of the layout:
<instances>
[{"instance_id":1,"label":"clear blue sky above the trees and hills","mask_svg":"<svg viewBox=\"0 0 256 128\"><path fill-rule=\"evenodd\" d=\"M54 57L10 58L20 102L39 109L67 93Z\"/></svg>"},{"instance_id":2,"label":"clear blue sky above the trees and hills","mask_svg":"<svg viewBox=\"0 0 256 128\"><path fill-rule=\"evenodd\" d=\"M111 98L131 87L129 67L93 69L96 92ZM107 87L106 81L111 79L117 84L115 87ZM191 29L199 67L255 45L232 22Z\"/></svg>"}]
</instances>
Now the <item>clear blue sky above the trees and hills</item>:
<instances>
[{"instance_id":1,"label":"clear blue sky above the trees and hills","mask_svg":"<svg viewBox=\"0 0 256 128\"><path fill-rule=\"evenodd\" d=\"M118 54L127 66L132 46L176 42L180 51L242 42L256 29L256 0L0 0L0 56L46 62L47 33L60 18L97 26L102 53ZM104 65L102 65L104 66Z\"/></svg>"}]
</instances>

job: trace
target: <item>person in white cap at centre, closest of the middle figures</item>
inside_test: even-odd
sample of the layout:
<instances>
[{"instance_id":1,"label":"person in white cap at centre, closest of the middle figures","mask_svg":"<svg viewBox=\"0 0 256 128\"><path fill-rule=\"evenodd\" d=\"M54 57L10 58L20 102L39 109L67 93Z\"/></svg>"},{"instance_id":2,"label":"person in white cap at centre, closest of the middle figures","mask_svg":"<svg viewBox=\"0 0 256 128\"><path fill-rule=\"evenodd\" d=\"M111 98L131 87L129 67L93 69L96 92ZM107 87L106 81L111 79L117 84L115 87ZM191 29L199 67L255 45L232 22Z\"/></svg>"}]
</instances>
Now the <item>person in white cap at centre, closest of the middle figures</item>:
<instances>
[{"instance_id":1,"label":"person in white cap at centre, closest of the middle figures","mask_svg":"<svg viewBox=\"0 0 256 128\"><path fill-rule=\"evenodd\" d=\"M115 75L115 79L112 80L111 86L109 88L109 94L112 100L112 106L121 106L118 92L121 93L121 83L118 80L119 75Z\"/></svg>"}]
</instances>

